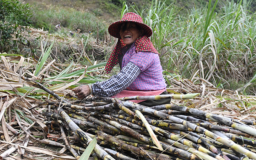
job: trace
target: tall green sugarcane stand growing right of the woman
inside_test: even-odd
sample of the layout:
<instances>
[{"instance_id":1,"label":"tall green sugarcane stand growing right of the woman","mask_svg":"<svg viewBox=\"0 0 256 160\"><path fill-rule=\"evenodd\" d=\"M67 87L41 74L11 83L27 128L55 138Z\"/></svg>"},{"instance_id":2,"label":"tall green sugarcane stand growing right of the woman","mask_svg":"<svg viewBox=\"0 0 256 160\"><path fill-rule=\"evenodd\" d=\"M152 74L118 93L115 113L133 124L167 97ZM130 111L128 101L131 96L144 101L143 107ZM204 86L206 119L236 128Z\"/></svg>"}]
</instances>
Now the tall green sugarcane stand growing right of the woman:
<instances>
[{"instance_id":1,"label":"tall green sugarcane stand growing right of the woman","mask_svg":"<svg viewBox=\"0 0 256 160\"><path fill-rule=\"evenodd\" d=\"M200 77L217 87L255 83L256 17L247 9L250 1L220 3L223 7L215 12L217 3L209 1L181 16L173 5L153 0L149 9L124 5L121 15L134 11L153 29L151 41L164 70L191 80Z\"/></svg>"}]
</instances>

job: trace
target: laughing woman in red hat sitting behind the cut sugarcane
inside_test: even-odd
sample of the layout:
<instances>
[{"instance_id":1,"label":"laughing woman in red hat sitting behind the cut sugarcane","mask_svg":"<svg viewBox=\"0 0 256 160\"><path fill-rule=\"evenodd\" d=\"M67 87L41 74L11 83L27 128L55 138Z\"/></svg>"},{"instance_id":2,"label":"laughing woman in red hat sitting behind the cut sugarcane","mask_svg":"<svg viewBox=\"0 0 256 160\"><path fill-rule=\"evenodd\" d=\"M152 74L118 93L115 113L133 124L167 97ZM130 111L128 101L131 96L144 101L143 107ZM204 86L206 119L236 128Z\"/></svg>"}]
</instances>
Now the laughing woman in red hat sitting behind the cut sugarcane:
<instances>
[{"instance_id":1,"label":"laughing woman in red hat sitting behind the cut sugarcane","mask_svg":"<svg viewBox=\"0 0 256 160\"><path fill-rule=\"evenodd\" d=\"M78 86L73 91L79 99L89 94L101 97L129 97L167 94L159 54L151 43L152 29L133 12L108 27L111 36L118 38L105 67L109 73L119 63L120 73L92 85ZM166 100L134 100L144 106L170 103Z\"/></svg>"}]
</instances>

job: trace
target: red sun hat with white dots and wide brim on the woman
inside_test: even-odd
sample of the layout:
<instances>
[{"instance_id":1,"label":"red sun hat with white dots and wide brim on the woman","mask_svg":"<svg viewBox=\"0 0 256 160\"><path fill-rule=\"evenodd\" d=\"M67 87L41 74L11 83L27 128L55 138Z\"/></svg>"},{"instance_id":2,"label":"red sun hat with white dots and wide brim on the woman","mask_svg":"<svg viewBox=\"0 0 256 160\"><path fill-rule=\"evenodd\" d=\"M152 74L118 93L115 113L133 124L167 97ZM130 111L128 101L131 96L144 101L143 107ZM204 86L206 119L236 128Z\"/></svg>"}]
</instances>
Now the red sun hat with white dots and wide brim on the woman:
<instances>
[{"instance_id":1,"label":"red sun hat with white dots and wide brim on the woman","mask_svg":"<svg viewBox=\"0 0 256 160\"><path fill-rule=\"evenodd\" d=\"M144 33L147 37L150 37L152 35L152 29L143 23L142 17L140 17L138 14L133 13L133 12L128 12L123 15L122 19L120 21L112 23L108 27L108 33L116 38L120 37L119 31L120 31L120 26L122 23L125 22L134 22L137 23L141 27L141 29L144 30Z\"/></svg>"}]
</instances>

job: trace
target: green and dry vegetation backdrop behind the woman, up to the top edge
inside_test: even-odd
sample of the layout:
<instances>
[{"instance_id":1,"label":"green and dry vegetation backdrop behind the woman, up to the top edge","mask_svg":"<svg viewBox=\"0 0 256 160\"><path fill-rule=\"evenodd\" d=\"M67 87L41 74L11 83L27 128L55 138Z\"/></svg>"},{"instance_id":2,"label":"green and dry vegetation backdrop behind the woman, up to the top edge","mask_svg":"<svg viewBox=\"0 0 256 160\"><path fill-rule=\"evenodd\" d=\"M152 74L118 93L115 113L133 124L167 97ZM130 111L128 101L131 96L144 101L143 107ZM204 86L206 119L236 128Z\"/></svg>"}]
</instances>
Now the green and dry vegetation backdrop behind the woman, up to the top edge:
<instances>
[{"instance_id":1,"label":"green and dry vegetation backdrop behind the woman, up to the top edge","mask_svg":"<svg viewBox=\"0 0 256 160\"><path fill-rule=\"evenodd\" d=\"M200 78L212 86L256 93L253 0L24 0L21 3L27 4L21 8L26 17L21 22L26 23L17 24L48 31L48 37L54 35L55 59L63 63L92 65L95 61L106 61L115 43L107 32L108 26L125 12L134 11L154 31L151 40L160 52L167 84L172 78L186 78L195 83ZM1 20L2 26L15 14ZM61 24L61 29L55 28L57 24ZM17 33L9 41L11 45L4 44L7 42L1 37L0 52L39 59L41 48L52 44L19 29L19 25L10 28L10 34Z\"/></svg>"}]
</instances>

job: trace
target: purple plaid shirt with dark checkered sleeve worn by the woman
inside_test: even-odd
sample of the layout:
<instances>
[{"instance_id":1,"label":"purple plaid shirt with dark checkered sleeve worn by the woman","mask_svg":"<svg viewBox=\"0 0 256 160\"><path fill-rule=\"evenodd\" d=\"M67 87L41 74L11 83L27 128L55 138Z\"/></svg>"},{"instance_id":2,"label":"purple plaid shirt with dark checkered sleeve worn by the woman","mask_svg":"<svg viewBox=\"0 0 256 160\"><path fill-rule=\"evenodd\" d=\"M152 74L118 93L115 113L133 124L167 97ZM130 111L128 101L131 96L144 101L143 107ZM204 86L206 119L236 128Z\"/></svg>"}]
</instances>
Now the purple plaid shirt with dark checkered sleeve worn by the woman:
<instances>
[{"instance_id":1,"label":"purple plaid shirt with dark checkered sleeve worn by the woman","mask_svg":"<svg viewBox=\"0 0 256 160\"><path fill-rule=\"evenodd\" d=\"M93 95L111 97L125 89L132 91L156 91L166 88L163 69L158 54L135 51L133 44L126 51L120 73L110 79L92 84Z\"/></svg>"}]
</instances>

